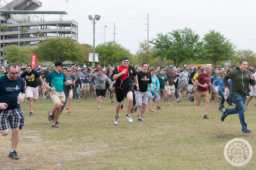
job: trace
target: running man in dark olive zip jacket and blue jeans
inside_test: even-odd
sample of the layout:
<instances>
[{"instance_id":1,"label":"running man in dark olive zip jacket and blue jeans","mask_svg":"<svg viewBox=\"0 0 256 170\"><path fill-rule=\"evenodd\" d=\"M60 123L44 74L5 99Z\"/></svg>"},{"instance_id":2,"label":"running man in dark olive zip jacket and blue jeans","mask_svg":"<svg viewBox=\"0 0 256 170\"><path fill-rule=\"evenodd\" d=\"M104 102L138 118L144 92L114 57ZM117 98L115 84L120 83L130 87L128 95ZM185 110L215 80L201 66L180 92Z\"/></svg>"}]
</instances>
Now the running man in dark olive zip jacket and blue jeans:
<instances>
[{"instance_id":1,"label":"running man in dark olive zip jacket and blue jeans","mask_svg":"<svg viewBox=\"0 0 256 170\"><path fill-rule=\"evenodd\" d=\"M246 102L247 89L249 84L255 85L255 76L251 71L246 70L247 61L241 60L239 67L236 67L236 70L229 71L223 78L223 83L225 86L225 92L228 90L228 79L231 79L231 96L236 103L236 107L232 109L224 109L222 111L221 121L228 115L239 114L240 123L242 125L242 133L249 133L251 130L247 129L247 124L244 121L244 104Z\"/></svg>"}]
</instances>

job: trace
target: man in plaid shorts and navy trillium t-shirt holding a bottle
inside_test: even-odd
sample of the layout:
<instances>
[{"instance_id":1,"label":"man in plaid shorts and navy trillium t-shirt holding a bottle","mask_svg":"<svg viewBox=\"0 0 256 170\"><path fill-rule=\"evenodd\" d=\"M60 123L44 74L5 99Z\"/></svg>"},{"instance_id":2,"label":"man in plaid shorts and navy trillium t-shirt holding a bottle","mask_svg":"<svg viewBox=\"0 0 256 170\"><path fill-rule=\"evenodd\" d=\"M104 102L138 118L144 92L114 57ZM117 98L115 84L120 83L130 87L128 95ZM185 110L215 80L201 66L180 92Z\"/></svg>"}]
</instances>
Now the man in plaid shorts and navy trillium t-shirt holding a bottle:
<instances>
[{"instance_id":1,"label":"man in plaid shorts and navy trillium t-shirt holding a bottle","mask_svg":"<svg viewBox=\"0 0 256 170\"><path fill-rule=\"evenodd\" d=\"M20 140L20 129L25 125L25 118L20 104L26 97L25 82L19 77L19 67L16 63L8 66L8 74L0 77L0 133L7 136L9 133L9 124L12 128L12 145L9 157L20 159L15 149ZM18 99L19 93L22 97Z\"/></svg>"}]
</instances>

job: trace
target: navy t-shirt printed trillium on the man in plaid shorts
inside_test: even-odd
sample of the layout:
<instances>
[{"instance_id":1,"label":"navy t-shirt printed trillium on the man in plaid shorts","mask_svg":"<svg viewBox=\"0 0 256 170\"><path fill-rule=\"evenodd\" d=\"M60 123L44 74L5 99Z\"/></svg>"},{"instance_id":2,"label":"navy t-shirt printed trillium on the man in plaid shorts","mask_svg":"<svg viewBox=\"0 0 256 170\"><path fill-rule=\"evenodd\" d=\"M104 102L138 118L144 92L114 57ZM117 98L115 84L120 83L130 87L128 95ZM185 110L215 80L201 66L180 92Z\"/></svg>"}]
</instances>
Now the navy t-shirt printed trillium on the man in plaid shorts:
<instances>
[{"instance_id":1,"label":"navy t-shirt printed trillium on the man in plaid shorts","mask_svg":"<svg viewBox=\"0 0 256 170\"><path fill-rule=\"evenodd\" d=\"M6 110L20 108L20 104L17 103L20 92L26 93L25 81L21 77L16 80L10 80L7 75L0 77L0 102L8 105Z\"/></svg>"}]
</instances>

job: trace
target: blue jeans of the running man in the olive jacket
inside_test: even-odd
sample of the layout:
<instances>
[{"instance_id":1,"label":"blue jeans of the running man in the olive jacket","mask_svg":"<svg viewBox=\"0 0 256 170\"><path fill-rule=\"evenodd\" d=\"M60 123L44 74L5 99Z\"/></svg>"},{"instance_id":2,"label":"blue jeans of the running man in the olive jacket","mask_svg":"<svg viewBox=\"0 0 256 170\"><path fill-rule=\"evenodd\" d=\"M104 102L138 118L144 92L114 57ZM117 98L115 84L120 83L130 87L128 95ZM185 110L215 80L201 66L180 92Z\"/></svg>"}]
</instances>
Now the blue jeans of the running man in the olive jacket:
<instances>
[{"instance_id":1,"label":"blue jeans of the running man in the olive jacket","mask_svg":"<svg viewBox=\"0 0 256 170\"><path fill-rule=\"evenodd\" d=\"M231 94L231 97L235 101L236 107L232 109L225 109L227 111L227 115L238 113L242 128L247 127L247 124L244 122L244 105L246 102L246 96L236 93L236 94Z\"/></svg>"}]
</instances>

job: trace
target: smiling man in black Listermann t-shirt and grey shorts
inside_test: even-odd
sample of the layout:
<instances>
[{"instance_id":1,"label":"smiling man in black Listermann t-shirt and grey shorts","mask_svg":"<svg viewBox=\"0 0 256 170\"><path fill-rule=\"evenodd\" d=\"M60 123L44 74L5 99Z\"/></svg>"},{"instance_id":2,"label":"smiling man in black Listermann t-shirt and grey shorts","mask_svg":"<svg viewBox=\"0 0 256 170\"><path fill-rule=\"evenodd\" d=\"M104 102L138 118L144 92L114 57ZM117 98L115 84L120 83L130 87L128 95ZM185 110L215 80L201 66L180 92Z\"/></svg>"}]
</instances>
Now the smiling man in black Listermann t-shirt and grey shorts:
<instances>
[{"instance_id":1,"label":"smiling man in black Listermann t-shirt and grey shorts","mask_svg":"<svg viewBox=\"0 0 256 170\"><path fill-rule=\"evenodd\" d=\"M145 113L145 110L148 105L149 93L148 93L148 83L150 90L153 91L153 85L151 80L151 74L148 72L148 63L144 62L141 65L142 70L137 72L139 86L134 87L134 94L136 105L134 107L139 107L139 122L146 122L142 116Z\"/></svg>"}]
</instances>

